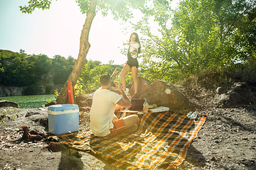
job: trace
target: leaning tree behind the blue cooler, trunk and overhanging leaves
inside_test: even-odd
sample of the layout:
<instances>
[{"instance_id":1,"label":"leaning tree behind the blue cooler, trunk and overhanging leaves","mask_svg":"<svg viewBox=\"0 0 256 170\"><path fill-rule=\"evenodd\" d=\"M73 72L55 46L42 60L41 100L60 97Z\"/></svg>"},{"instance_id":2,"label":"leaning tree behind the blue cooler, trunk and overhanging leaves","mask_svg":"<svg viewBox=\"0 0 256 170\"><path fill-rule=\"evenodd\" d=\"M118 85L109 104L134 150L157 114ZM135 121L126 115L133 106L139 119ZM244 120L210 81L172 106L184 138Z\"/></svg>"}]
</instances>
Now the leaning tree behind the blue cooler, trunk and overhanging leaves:
<instances>
[{"instance_id":1,"label":"leaning tree behind the blue cooler, trunk and overhanging leaves","mask_svg":"<svg viewBox=\"0 0 256 170\"><path fill-rule=\"evenodd\" d=\"M78 54L78 60L75 62L75 67L71 72L70 76L68 77L68 80L73 82L76 82L78 80L80 72L82 72L82 67L85 64L86 55L90 48L88 36L93 18L95 17L96 13L101 11L103 16L107 16L107 14L111 12L115 20L118 20L120 18L123 21L127 21L128 18L133 17L133 9L139 9L144 12L148 11L146 9L150 8L152 3L169 3L169 1L165 0L77 0L76 2L78 3L78 6L80 6L80 11L82 13L86 13L87 16L80 36L80 51ZM20 6L22 12L32 13L35 8L50 8L51 0L28 1L28 4L28 6ZM60 96L57 99L57 103L68 103L67 91L68 86L67 84L65 84L62 91L60 91Z\"/></svg>"}]
</instances>

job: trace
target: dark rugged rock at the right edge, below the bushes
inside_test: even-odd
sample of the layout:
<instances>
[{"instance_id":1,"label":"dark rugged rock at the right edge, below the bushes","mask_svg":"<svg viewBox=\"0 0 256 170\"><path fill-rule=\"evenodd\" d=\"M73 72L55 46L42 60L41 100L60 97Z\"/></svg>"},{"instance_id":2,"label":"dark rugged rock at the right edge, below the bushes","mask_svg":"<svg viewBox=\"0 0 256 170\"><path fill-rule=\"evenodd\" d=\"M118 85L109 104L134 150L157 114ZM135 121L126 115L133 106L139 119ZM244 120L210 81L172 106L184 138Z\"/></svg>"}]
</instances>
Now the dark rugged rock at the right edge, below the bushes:
<instances>
[{"instance_id":1,"label":"dark rugged rock at the right edge, below the bushes","mask_svg":"<svg viewBox=\"0 0 256 170\"><path fill-rule=\"evenodd\" d=\"M245 82L236 82L228 92L216 94L213 103L223 108L235 108L255 105L256 98Z\"/></svg>"}]
</instances>

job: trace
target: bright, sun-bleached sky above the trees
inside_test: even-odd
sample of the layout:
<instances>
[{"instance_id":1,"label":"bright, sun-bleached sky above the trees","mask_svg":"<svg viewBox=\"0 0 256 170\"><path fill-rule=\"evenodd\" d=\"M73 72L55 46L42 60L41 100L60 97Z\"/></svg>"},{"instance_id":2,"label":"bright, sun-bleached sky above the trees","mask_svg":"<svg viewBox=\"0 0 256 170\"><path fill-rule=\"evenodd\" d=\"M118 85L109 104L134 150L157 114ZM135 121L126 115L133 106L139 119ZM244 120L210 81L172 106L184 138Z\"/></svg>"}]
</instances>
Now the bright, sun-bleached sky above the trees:
<instances>
[{"instance_id":1,"label":"bright, sun-bleached sky above the trees","mask_svg":"<svg viewBox=\"0 0 256 170\"><path fill-rule=\"evenodd\" d=\"M21 13L19 6L28 6L29 0L0 0L0 49L28 55L61 55L78 58L80 35L86 15L80 12L75 0L52 1L50 9L36 9L32 14ZM174 8L178 0L171 2ZM135 12L132 22L140 16ZM127 56L122 55L122 43L129 40L132 28L123 32L121 21L112 16L103 17L97 13L89 33L90 50L87 60L98 60L107 64L124 64ZM156 29L157 24L152 24ZM139 33L138 33L139 34ZM139 35L140 36L140 35ZM140 61L139 61L140 62Z\"/></svg>"}]
</instances>

